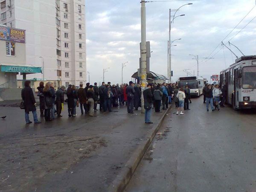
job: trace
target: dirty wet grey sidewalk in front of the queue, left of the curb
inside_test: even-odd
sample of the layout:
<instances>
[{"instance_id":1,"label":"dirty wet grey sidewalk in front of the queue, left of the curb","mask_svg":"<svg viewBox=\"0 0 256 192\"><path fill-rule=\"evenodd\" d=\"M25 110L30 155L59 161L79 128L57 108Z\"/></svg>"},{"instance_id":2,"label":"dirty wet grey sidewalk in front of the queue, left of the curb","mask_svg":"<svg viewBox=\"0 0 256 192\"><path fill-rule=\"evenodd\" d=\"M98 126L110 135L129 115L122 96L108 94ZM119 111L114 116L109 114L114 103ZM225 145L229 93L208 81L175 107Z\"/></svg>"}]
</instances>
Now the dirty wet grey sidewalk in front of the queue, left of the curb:
<instances>
[{"instance_id":1,"label":"dirty wet grey sidewalk in front of the queue, left of the curb","mask_svg":"<svg viewBox=\"0 0 256 192\"><path fill-rule=\"evenodd\" d=\"M23 110L0 107L7 115L0 120L0 191L106 192L164 115L153 112L154 124L145 124L144 114L125 106L96 117L76 110L76 117L65 110L61 119L26 125Z\"/></svg>"}]
</instances>

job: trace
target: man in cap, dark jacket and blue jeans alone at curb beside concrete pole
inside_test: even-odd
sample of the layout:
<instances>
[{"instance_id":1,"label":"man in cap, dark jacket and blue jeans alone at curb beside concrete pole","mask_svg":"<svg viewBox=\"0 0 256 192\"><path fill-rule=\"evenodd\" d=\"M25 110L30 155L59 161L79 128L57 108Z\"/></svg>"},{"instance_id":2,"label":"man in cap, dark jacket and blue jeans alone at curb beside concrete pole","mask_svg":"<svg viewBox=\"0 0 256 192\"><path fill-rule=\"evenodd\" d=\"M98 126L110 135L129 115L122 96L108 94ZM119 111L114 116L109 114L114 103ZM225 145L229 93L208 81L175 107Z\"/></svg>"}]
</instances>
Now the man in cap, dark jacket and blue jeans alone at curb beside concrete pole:
<instances>
[{"instance_id":1,"label":"man in cap, dark jacket and blue jeans alone at curb beside concrete pole","mask_svg":"<svg viewBox=\"0 0 256 192\"><path fill-rule=\"evenodd\" d=\"M143 91L144 108L145 108L145 123L152 124L150 117L152 112L153 95L151 93L151 85L147 84L146 89Z\"/></svg>"}]
</instances>

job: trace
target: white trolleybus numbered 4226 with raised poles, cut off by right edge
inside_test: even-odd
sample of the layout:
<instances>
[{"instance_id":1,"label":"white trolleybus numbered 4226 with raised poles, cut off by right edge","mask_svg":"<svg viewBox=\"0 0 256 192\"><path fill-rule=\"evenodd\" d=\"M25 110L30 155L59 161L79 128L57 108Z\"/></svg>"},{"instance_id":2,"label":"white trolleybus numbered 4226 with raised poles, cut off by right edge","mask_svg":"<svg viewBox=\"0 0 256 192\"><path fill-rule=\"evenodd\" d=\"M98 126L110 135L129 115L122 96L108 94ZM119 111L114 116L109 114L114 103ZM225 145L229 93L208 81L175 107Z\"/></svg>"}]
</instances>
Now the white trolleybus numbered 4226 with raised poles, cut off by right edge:
<instances>
[{"instance_id":1,"label":"white trolleybus numbered 4226 with raised poles, cut off by right edge","mask_svg":"<svg viewBox=\"0 0 256 192\"><path fill-rule=\"evenodd\" d=\"M226 102L235 110L256 108L256 55L242 56L221 71L220 85L227 86Z\"/></svg>"}]
</instances>

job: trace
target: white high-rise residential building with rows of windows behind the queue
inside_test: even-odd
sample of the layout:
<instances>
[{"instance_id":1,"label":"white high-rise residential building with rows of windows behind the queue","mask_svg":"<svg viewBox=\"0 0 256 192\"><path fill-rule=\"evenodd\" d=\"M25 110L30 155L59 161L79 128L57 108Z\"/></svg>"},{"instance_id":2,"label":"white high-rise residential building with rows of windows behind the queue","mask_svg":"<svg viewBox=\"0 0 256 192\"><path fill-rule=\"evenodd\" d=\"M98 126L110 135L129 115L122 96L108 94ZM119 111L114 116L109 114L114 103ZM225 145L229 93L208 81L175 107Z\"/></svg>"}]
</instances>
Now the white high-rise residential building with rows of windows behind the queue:
<instances>
[{"instance_id":1,"label":"white high-rise residential building with rows of windows behind the queue","mask_svg":"<svg viewBox=\"0 0 256 192\"><path fill-rule=\"evenodd\" d=\"M56 87L85 83L84 0L0 0L0 23L26 30L26 64L42 67L28 75Z\"/></svg>"}]
</instances>

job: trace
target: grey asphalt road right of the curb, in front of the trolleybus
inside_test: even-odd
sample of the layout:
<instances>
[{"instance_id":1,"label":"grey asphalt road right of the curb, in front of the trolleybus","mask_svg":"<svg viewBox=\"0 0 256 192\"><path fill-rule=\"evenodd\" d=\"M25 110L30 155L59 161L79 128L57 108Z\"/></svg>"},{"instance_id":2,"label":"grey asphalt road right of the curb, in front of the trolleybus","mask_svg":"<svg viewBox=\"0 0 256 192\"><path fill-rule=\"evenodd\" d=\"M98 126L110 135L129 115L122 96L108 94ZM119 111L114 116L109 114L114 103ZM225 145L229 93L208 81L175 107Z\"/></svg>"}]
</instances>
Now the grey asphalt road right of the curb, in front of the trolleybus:
<instances>
[{"instance_id":1,"label":"grey asphalt road right of the curb, in front of the trolleybus","mask_svg":"<svg viewBox=\"0 0 256 192\"><path fill-rule=\"evenodd\" d=\"M165 119L125 191L256 192L255 111L190 108Z\"/></svg>"}]
</instances>

